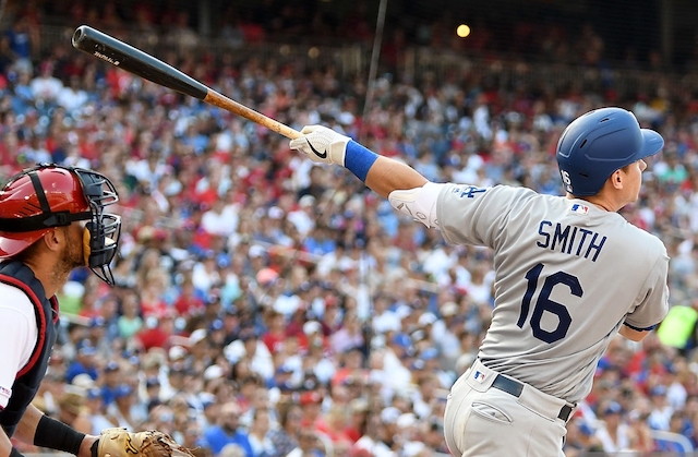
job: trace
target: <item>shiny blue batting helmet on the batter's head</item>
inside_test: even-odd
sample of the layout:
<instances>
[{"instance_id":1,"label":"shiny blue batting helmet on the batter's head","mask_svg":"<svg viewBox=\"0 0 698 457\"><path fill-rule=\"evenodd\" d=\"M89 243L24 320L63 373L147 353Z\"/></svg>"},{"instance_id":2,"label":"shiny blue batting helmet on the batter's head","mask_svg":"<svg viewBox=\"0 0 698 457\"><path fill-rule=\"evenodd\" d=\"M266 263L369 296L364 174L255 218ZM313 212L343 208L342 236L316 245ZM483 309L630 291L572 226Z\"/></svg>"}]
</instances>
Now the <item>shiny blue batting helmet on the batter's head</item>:
<instances>
[{"instance_id":1,"label":"shiny blue batting helmet on the batter's head","mask_svg":"<svg viewBox=\"0 0 698 457\"><path fill-rule=\"evenodd\" d=\"M600 108L575 119L557 142L557 166L565 191L597 194L613 172L664 147L662 136L640 124L630 111Z\"/></svg>"}]
</instances>

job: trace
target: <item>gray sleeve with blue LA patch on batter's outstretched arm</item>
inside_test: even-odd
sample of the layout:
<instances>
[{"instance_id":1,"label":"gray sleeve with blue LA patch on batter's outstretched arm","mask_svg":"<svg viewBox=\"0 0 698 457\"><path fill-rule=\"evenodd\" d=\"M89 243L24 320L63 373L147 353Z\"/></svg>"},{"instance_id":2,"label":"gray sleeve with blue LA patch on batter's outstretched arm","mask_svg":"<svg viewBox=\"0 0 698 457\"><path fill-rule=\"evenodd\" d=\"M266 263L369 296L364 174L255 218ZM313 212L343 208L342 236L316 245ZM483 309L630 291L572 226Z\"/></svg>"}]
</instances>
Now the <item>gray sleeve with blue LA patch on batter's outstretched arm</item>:
<instances>
[{"instance_id":1,"label":"gray sleeve with blue LA patch on batter's outstretched arm","mask_svg":"<svg viewBox=\"0 0 698 457\"><path fill-rule=\"evenodd\" d=\"M533 191L526 188L447 184L436 207L442 236L452 244L494 249L512 209L522 206L532 195Z\"/></svg>"}]
</instances>

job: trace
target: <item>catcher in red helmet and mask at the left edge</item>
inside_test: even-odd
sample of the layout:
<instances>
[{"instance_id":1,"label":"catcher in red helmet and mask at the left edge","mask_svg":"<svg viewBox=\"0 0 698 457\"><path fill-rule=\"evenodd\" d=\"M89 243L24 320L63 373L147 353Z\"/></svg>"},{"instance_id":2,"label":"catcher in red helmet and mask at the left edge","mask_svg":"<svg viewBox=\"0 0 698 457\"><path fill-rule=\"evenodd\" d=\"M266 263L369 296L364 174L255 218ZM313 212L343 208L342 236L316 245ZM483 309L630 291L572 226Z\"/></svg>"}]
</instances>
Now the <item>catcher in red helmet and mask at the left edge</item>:
<instances>
[{"instance_id":1,"label":"catcher in red helmet and mask at the left edge","mask_svg":"<svg viewBox=\"0 0 698 457\"><path fill-rule=\"evenodd\" d=\"M79 457L191 455L157 431L85 435L32 405L56 342L56 293L80 266L113 285L121 219L105 208L118 200L104 175L48 164L0 190L0 456L22 456L11 437Z\"/></svg>"}]
</instances>

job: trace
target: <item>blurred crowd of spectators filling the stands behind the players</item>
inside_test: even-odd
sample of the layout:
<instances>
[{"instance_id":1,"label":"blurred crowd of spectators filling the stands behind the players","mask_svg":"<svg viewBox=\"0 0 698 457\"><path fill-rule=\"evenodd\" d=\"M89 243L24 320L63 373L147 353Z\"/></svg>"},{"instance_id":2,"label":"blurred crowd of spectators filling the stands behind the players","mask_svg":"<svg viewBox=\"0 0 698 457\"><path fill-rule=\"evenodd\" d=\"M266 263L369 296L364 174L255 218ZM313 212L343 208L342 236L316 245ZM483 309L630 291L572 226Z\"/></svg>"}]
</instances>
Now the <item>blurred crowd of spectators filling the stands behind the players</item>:
<instances>
[{"instance_id":1,"label":"blurred crowd of spectators filling the stands behind the players","mask_svg":"<svg viewBox=\"0 0 698 457\"><path fill-rule=\"evenodd\" d=\"M33 59L15 38L0 44L0 177L37 161L93 168L123 217L117 286L79 270L60 293L41 410L91 433L155 428L212 457L448 455L446 395L493 306L488 250L446 245L267 129L60 46ZM172 57L297 130L329 125L441 182L561 194L554 147L580 113L621 105L659 130L666 147L623 214L665 242L673 308L642 344L613 341L565 452L698 445L689 91L666 81L610 100L574 81L550 93L477 73L380 77L364 117L365 82L333 68L195 58Z\"/></svg>"}]
</instances>

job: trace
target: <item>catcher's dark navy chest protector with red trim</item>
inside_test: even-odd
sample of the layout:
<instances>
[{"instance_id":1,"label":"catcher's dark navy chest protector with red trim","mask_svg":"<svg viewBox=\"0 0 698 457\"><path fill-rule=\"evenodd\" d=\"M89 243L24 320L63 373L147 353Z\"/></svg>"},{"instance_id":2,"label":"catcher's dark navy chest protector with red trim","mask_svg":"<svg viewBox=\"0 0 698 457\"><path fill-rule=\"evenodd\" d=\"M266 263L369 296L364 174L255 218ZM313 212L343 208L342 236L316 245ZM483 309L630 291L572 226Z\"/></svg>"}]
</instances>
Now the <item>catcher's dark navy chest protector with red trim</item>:
<instances>
[{"instance_id":1,"label":"catcher's dark navy chest protector with red trim","mask_svg":"<svg viewBox=\"0 0 698 457\"><path fill-rule=\"evenodd\" d=\"M17 373L8 406L0 411L0 425L12 436L26 407L32 402L48 368L58 328L58 300L47 300L44 286L21 262L0 263L0 282L21 289L34 304L38 338L29 362Z\"/></svg>"}]
</instances>

